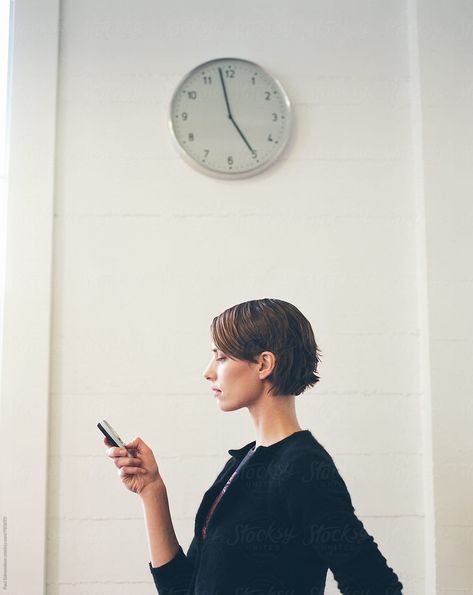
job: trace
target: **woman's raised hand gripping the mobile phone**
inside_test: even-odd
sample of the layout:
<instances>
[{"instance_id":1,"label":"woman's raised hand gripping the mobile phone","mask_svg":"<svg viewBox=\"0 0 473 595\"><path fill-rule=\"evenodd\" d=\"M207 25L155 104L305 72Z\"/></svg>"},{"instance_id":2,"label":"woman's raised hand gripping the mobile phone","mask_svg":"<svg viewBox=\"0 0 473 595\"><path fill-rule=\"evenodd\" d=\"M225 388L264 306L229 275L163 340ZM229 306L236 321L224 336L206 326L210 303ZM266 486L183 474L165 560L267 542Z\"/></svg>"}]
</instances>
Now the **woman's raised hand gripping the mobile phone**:
<instances>
[{"instance_id":1,"label":"woman's raised hand gripping the mobile phone","mask_svg":"<svg viewBox=\"0 0 473 595\"><path fill-rule=\"evenodd\" d=\"M149 492L164 485L153 451L141 438L135 438L125 445L132 457L128 456L125 449L112 446L107 438L103 441L109 447L107 456L113 459L118 476L131 492L143 495L145 488Z\"/></svg>"}]
</instances>

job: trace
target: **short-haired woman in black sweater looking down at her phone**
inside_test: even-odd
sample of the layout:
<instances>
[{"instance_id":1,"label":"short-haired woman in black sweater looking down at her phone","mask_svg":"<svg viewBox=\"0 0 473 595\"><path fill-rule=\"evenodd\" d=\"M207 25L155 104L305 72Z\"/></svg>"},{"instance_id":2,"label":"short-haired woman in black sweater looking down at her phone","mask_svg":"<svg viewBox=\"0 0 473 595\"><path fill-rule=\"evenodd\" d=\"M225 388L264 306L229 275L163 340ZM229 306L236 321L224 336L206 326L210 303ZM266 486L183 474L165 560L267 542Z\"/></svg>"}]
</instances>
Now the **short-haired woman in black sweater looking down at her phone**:
<instances>
[{"instance_id":1,"label":"short-haired woman in black sweater looking down at her phone","mask_svg":"<svg viewBox=\"0 0 473 595\"><path fill-rule=\"evenodd\" d=\"M143 503L159 594L322 595L330 568L344 595L402 595L333 459L297 420L296 395L319 380L308 320L288 302L252 300L215 317L211 336L204 378L222 411L248 408L256 440L228 451L187 554L149 447L136 438L126 445L133 458L107 451Z\"/></svg>"}]
</instances>

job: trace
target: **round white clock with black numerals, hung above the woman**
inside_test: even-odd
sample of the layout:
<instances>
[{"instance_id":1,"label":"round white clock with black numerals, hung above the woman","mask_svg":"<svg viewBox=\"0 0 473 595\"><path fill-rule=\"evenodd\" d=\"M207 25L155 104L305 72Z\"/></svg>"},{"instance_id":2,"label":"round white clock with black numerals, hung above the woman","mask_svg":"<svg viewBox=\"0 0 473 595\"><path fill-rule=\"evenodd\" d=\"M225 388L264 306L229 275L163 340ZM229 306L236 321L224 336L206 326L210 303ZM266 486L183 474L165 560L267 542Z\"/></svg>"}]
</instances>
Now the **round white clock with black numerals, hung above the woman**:
<instances>
[{"instance_id":1,"label":"round white clock with black numerals, hung above the woman","mask_svg":"<svg viewBox=\"0 0 473 595\"><path fill-rule=\"evenodd\" d=\"M289 99L261 66L221 58L194 68L177 87L170 126L192 165L222 178L259 173L281 154Z\"/></svg>"}]
</instances>

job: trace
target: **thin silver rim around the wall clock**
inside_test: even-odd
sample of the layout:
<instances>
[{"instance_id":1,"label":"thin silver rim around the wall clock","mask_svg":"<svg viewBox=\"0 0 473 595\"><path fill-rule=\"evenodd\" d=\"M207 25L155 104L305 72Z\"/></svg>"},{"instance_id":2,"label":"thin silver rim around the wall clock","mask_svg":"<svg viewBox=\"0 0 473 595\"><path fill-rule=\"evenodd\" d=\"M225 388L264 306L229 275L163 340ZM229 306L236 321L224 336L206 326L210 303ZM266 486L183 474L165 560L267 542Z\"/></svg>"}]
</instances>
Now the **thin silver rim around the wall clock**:
<instances>
[{"instance_id":1,"label":"thin silver rim around the wall clock","mask_svg":"<svg viewBox=\"0 0 473 595\"><path fill-rule=\"evenodd\" d=\"M252 66L255 66L256 68L258 68L259 70L264 72L271 79L271 81L277 86L278 90L281 93L281 96L283 97L283 100L284 100L284 103L286 106L286 110L287 110L286 127L285 127L286 129L285 129L284 136L282 137L282 139L280 141L280 145L279 145L278 149L276 151L274 151L274 153L272 153L271 156L264 163L257 165L256 167L251 168L250 170L243 171L243 172L224 172L224 171L215 170L215 169L212 169L211 167L203 165L202 163L200 163L199 161L194 159L191 155L189 155L189 153L182 147L181 143L178 141L176 131L174 129L174 123L173 123L173 117L172 117L173 106L174 106L175 100L178 96L178 91L182 87L182 84L188 78L194 76L203 67L206 67L210 64L215 64L216 62L228 61L228 60L232 60L232 61L236 61L236 62L245 62L246 64L251 64ZM277 79L275 76L273 76L266 68L264 68L263 66L260 66L257 62L253 62L251 60L246 60L244 58L225 57L225 56L222 58L213 58L212 60L207 60L206 62L202 62L201 64L198 64L197 66L192 68L186 75L184 75L181 78L181 80L179 81L179 83L177 84L176 88L174 89L174 92L173 92L173 95L172 95L172 98L171 98L171 101L169 104L169 112L168 112L168 125L171 130L171 136L173 138L174 145L176 146L177 151L179 152L180 156L186 161L186 163L188 165L193 167L195 170L197 170L201 173L205 173L208 176L218 178L218 179L225 179L225 180L238 180L238 179L243 179L243 178L249 178L249 177L255 176L255 175L263 172L264 170L268 169L271 165L274 165L279 160L282 153L285 151L285 149L288 146L288 141L289 141L289 138L291 136L291 131L292 131L292 122L293 122L292 104L288 97L288 94L286 93L286 90L282 86L279 79Z\"/></svg>"}]
</instances>

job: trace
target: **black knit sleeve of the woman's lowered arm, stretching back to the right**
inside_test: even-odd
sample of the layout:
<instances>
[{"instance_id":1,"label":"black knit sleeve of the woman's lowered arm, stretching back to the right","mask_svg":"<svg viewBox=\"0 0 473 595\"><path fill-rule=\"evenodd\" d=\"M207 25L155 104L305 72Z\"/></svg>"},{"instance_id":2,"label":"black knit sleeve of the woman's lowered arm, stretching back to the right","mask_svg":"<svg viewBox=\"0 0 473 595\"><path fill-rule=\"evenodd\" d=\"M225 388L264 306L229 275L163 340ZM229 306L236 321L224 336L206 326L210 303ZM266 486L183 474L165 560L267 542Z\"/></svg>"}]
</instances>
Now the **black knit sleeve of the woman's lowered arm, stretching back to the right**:
<instances>
[{"instance_id":1,"label":"black knit sleeve of the woman's lowered arm, stretching back to the right","mask_svg":"<svg viewBox=\"0 0 473 595\"><path fill-rule=\"evenodd\" d=\"M402 595L402 583L355 515L329 455L305 456L293 463L282 490L308 555L330 568L343 595Z\"/></svg>"}]
</instances>

